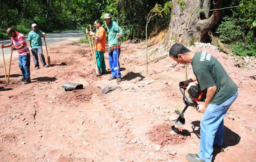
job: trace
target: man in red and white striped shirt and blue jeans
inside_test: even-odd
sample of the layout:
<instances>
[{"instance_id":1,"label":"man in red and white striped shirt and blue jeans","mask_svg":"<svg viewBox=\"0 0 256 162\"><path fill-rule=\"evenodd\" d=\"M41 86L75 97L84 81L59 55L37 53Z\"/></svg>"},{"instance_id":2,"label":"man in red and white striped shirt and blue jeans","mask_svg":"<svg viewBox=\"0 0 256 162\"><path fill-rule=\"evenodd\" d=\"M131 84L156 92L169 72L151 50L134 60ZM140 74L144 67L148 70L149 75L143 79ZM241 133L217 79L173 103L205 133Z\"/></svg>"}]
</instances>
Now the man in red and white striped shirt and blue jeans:
<instances>
[{"instance_id":1,"label":"man in red and white striped shirt and blue jeans","mask_svg":"<svg viewBox=\"0 0 256 162\"><path fill-rule=\"evenodd\" d=\"M19 54L19 66L22 74L22 78L19 81L23 81L22 84L30 83L30 51L27 47L26 38L18 31L14 31L12 28L8 28L6 31L9 37L12 37L11 43L3 45L0 44L0 48L12 47L11 50L17 50Z\"/></svg>"}]
</instances>

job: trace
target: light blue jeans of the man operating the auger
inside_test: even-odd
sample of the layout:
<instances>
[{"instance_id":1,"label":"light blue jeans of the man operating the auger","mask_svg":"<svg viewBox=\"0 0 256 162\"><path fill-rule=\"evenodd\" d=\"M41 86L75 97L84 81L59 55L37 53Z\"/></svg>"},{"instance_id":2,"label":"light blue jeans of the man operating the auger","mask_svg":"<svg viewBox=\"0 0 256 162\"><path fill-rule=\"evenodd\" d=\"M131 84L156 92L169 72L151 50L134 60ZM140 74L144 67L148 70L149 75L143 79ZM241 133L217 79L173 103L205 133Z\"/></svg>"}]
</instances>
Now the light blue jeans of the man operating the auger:
<instances>
[{"instance_id":1,"label":"light blue jeans of the man operating the auger","mask_svg":"<svg viewBox=\"0 0 256 162\"><path fill-rule=\"evenodd\" d=\"M197 155L204 162L212 161L213 145L222 146L223 118L231 104L236 100L238 90L221 104L209 104L200 122L200 152Z\"/></svg>"}]
</instances>

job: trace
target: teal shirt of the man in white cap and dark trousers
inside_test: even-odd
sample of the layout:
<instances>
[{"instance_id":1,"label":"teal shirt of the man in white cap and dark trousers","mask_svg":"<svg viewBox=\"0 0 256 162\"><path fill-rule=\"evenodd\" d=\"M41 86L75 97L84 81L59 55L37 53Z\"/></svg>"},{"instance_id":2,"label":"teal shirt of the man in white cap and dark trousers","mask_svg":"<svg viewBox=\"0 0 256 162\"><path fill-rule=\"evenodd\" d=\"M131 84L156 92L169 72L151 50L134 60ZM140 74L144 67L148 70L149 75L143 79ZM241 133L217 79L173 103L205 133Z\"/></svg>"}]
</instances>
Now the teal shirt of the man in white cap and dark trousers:
<instances>
[{"instance_id":1,"label":"teal shirt of the man in white cap and dark trousers","mask_svg":"<svg viewBox=\"0 0 256 162\"><path fill-rule=\"evenodd\" d=\"M32 30L28 33L27 40L31 42L32 49L42 48L42 33L40 30L36 32Z\"/></svg>"}]
</instances>

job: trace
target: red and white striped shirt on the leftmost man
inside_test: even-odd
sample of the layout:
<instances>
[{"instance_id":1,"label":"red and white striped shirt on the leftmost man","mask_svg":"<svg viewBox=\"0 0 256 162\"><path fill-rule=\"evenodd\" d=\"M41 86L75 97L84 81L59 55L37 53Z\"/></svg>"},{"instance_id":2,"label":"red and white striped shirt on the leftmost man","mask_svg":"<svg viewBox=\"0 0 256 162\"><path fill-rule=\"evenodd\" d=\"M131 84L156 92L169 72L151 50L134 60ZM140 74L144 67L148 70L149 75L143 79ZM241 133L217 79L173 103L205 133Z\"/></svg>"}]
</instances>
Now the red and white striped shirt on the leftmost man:
<instances>
[{"instance_id":1,"label":"red and white striped shirt on the leftmost man","mask_svg":"<svg viewBox=\"0 0 256 162\"><path fill-rule=\"evenodd\" d=\"M24 48L17 50L17 51L20 56L26 56L28 53L30 53L30 51L27 47L26 38L23 34L19 33L18 31L15 31L15 32L17 35L16 35L16 37L12 37L13 46L15 48L18 48L21 46L21 44L24 44Z\"/></svg>"}]
</instances>

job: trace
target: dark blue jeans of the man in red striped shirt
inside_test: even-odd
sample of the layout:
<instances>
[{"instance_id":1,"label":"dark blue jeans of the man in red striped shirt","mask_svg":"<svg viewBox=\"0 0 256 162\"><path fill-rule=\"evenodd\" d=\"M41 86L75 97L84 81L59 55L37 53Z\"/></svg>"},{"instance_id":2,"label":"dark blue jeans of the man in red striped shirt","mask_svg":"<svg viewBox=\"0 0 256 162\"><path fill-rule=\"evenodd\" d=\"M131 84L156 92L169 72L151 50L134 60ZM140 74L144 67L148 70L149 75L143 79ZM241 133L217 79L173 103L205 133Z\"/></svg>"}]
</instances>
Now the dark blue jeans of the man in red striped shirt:
<instances>
[{"instance_id":1,"label":"dark blue jeans of the man in red striped shirt","mask_svg":"<svg viewBox=\"0 0 256 162\"><path fill-rule=\"evenodd\" d=\"M30 53L27 53L27 56L19 56L19 67L22 76L30 78Z\"/></svg>"}]
</instances>

